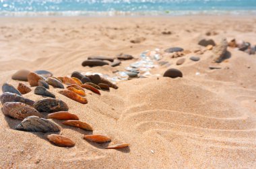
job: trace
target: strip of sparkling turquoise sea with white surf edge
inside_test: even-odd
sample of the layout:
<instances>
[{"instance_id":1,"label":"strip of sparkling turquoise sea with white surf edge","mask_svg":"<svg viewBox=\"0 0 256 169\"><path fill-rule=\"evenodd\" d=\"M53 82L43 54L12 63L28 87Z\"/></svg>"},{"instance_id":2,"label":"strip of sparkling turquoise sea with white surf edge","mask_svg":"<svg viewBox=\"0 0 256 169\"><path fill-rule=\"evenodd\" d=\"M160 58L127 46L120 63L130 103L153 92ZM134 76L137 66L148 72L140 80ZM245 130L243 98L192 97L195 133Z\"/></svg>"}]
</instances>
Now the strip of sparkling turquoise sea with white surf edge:
<instances>
[{"instance_id":1,"label":"strip of sparkling turquoise sea with white surf edge","mask_svg":"<svg viewBox=\"0 0 256 169\"><path fill-rule=\"evenodd\" d=\"M256 0L0 0L1 16L256 15Z\"/></svg>"}]
</instances>

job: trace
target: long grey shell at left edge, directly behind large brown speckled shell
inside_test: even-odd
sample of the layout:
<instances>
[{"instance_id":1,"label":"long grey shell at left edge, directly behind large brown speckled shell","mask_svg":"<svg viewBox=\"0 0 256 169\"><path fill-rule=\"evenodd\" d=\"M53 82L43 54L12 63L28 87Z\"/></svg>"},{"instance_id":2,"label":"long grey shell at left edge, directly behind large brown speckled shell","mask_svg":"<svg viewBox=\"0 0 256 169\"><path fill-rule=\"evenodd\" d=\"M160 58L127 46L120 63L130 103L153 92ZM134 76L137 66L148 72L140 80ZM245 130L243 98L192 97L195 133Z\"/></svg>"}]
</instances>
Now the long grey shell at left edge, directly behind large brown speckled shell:
<instances>
[{"instance_id":1,"label":"long grey shell at left edge, directly behind large brown speckled shell","mask_svg":"<svg viewBox=\"0 0 256 169\"><path fill-rule=\"evenodd\" d=\"M2 104L6 103L6 102L20 102L20 103L25 103L26 105L30 105L33 106L34 105L34 101L30 100L30 99L26 99L20 95L14 94L14 93L3 93L0 96L0 101Z\"/></svg>"}]
</instances>

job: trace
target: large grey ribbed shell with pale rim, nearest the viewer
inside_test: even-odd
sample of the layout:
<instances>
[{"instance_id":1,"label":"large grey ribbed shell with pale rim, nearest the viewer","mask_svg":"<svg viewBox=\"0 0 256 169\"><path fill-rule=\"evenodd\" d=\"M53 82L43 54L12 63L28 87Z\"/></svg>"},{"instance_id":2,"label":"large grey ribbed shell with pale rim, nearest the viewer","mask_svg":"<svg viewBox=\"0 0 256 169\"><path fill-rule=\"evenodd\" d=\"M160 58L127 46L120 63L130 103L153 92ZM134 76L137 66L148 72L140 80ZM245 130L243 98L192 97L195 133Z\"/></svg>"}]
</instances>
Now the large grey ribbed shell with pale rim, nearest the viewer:
<instances>
[{"instance_id":1,"label":"large grey ribbed shell with pale rim, nearest the viewer","mask_svg":"<svg viewBox=\"0 0 256 169\"><path fill-rule=\"evenodd\" d=\"M59 125L49 121L48 119L39 118L37 116L26 117L22 123L16 126L16 129L21 131L34 132L59 132Z\"/></svg>"}]
</instances>

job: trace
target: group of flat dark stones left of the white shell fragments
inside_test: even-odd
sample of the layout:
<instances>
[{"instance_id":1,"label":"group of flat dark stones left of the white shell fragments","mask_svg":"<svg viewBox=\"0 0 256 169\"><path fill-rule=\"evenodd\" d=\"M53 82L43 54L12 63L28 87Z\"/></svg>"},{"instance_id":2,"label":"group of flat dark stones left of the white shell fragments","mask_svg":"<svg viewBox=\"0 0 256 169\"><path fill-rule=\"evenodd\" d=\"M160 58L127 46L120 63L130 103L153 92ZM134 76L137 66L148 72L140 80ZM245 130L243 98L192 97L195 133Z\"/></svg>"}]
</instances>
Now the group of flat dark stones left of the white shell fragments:
<instances>
[{"instance_id":1,"label":"group of flat dark stones left of the white shell fragments","mask_svg":"<svg viewBox=\"0 0 256 169\"><path fill-rule=\"evenodd\" d=\"M84 60L82 62L82 66L104 66L104 65L110 65L110 66L119 66L121 64L121 60L131 60L133 59L133 56L129 54L119 54L117 57L107 57L107 56L90 56L87 60Z\"/></svg>"}]
</instances>

